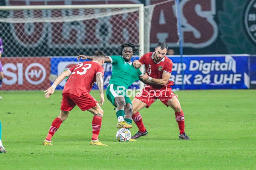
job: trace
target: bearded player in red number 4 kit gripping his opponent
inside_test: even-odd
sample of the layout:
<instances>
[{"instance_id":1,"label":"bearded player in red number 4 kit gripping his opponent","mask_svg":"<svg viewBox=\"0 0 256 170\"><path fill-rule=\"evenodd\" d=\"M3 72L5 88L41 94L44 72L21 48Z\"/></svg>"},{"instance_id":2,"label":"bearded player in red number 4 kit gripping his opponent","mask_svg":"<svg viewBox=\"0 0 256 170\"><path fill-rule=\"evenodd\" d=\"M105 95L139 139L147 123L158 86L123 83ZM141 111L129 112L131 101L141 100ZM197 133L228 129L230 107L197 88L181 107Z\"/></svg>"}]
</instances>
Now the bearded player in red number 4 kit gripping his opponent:
<instances>
[{"instance_id":1,"label":"bearded player in red number 4 kit gripping his opponent","mask_svg":"<svg viewBox=\"0 0 256 170\"><path fill-rule=\"evenodd\" d=\"M173 62L165 56L167 49L167 44L160 42L155 48L155 52L146 53L139 60L133 62L135 68L139 68L144 64L146 73L141 75L140 79L144 81L146 86L132 100L132 119L139 128L139 131L132 136L132 139L147 135L147 130L144 127L139 110L144 107L150 107L155 100L159 99L163 104L170 106L174 110L176 121L180 129L179 138L190 140L188 135L185 134L185 119L180 102L170 87L173 85L173 82L169 81Z\"/></svg>"}]
</instances>

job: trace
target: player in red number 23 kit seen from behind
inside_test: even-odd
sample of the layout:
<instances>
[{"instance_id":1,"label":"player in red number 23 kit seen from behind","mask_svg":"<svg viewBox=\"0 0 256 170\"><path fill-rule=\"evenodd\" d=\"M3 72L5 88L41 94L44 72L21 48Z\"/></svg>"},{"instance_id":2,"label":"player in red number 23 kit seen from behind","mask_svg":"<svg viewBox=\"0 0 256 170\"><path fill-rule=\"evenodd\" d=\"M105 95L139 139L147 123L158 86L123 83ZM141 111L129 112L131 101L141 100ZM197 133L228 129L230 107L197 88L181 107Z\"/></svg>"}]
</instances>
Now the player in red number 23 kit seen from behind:
<instances>
[{"instance_id":1,"label":"player in red number 23 kit seen from behind","mask_svg":"<svg viewBox=\"0 0 256 170\"><path fill-rule=\"evenodd\" d=\"M45 98L49 98L54 93L56 86L62 82L65 77L69 76L62 93L62 101L59 116L53 120L48 135L43 145L52 145L52 136L59 129L61 123L67 119L69 111L76 105L82 110L93 113L93 135L90 145L106 146L98 140L99 131L101 130L101 121L103 110L98 102L89 94L93 84L97 82L97 86L101 95L101 105L104 102L103 94L103 75L104 68L102 65L105 61L105 54L101 51L95 51L93 60L90 62L79 63L76 66L64 71L54 81L53 85L45 92Z\"/></svg>"}]
</instances>

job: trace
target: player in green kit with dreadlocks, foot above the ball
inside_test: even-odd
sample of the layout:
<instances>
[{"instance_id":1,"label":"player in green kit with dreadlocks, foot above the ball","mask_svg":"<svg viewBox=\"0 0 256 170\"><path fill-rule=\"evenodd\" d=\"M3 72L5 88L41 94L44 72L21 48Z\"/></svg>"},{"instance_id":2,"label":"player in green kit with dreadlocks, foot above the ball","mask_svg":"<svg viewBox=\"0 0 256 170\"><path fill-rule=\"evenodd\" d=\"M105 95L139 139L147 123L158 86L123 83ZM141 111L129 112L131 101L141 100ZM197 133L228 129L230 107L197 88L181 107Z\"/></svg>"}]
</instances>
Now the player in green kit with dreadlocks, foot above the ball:
<instances>
[{"instance_id":1,"label":"player in green kit with dreadlocks, foot above the ball","mask_svg":"<svg viewBox=\"0 0 256 170\"><path fill-rule=\"evenodd\" d=\"M122 44L121 56L106 56L105 63L112 63L113 71L106 89L108 100L116 107L117 128L131 128L132 102L126 90L142 75L131 63L133 53L139 51L139 45ZM78 59L92 59L90 56L79 55Z\"/></svg>"}]
</instances>

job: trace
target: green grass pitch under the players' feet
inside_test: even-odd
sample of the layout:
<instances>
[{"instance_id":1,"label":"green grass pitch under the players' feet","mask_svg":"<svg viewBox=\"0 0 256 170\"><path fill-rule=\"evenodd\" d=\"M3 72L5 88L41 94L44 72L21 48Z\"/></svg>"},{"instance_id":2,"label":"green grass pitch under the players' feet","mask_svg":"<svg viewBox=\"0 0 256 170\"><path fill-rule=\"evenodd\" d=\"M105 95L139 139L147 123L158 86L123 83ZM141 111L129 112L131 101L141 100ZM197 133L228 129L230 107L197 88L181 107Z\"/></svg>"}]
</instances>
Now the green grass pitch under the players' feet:
<instances>
[{"instance_id":1,"label":"green grass pitch under the players' feet","mask_svg":"<svg viewBox=\"0 0 256 170\"><path fill-rule=\"evenodd\" d=\"M116 115L106 99L99 139L90 146L93 114L77 106L42 146L60 111L61 91L1 91L0 169L256 169L256 91L178 91L191 141L178 140L174 111L160 101L140 111L148 130L137 142L115 139ZM91 94L99 99L99 92ZM137 132L133 122L132 135Z\"/></svg>"}]
</instances>

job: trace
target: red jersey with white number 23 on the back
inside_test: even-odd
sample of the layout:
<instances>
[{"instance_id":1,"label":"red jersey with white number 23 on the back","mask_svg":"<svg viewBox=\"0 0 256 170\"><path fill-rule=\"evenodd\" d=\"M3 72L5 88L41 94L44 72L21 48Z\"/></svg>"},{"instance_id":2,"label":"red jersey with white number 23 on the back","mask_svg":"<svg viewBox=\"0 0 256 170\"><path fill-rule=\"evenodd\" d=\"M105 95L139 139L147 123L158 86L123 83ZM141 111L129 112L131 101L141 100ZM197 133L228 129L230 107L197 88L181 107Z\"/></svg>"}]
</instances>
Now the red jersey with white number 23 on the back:
<instances>
[{"instance_id":1,"label":"red jersey with white number 23 on the back","mask_svg":"<svg viewBox=\"0 0 256 170\"><path fill-rule=\"evenodd\" d=\"M83 62L68 69L71 73L63 93L70 93L76 96L89 94L96 81L96 74L104 75L104 68L97 62Z\"/></svg>"}]
</instances>

